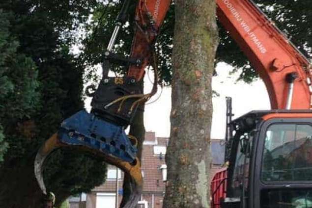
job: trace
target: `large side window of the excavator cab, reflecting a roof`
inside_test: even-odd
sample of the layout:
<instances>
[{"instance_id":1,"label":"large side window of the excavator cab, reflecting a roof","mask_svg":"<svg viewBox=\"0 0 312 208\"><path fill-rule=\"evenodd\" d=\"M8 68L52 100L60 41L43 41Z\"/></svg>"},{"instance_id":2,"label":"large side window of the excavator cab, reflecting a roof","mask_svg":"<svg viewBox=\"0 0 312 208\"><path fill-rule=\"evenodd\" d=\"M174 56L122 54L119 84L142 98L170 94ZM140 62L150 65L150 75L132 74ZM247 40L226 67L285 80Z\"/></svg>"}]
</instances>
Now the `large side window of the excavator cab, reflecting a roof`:
<instances>
[{"instance_id":1,"label":"large side window of the excavator cab, reflecting a roof","mask_svg":"<svg viewBox=\"0 0 312 208\"><path fill-rule=\"evenodd\" d=\"M312 180L312 127L273 124L266 131L261 180Z\"/></svg>"}]
</instances>

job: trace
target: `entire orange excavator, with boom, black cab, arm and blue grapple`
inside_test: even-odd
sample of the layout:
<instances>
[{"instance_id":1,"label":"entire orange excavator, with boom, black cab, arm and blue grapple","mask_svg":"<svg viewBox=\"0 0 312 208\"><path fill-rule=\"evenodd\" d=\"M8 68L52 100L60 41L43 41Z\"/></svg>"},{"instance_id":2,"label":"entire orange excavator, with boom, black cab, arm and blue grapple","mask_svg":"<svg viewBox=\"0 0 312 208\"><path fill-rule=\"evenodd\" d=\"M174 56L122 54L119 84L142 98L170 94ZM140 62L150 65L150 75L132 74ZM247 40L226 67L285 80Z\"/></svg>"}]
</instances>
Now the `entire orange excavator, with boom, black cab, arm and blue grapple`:
<instances>
[{"instance_id":1,"label":"entire orange excavator, with boom, black cab, arm and blue grapple","mask_svg":"<svg viewBox=\"0 0 312 208\"><path fill-rule=\"evenodd\" d=\"M135 205L142 190L137 140L125 128L157 89L143 94L144 70L152 65L157 79L154 43L170 0L138 0L135 35L129 57L114 54L118 32L127 21L131 0L124 0L104 53L98 87L89 86L90 113L79 111L39 149L34 172L47 194L45 159L57 148L75 147L103 157L131 176ZM312 68L252 0L216 0L217 15L264 81L271 110L252 111L235 120L227 112L226 168L211 182L212 208L312 207ZM109 77L111 63L127 67L124 77ZM131 206L130 206L131 207Z\"/></svg>"}]
</instances>

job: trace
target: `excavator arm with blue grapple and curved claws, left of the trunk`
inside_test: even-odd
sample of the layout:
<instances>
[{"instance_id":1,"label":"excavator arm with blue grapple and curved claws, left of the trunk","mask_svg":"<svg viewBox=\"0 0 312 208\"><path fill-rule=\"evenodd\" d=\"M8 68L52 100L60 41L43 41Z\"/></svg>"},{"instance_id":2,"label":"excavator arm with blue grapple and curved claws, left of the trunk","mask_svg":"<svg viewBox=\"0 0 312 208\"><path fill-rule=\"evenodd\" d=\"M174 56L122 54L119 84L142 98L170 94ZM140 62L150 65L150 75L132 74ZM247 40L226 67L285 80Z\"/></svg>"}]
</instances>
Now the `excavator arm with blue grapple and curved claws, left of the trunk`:
<instances>
[{"instance_id":1,"label":"excavator arm with blue grapple and curved claws, left of the trunk","mask_svg":"<svg viewBox=\"0 0 312 208\"><path fill-rule=\"evenodd\" d=\"M146 102L157 91L157 64L154 44L159 27L165 19L170 0L139 0L135 12L135 37L130 56L113 54L113 46L119 30L127 21L128 8L132 0L124 0L121 12L107 51L103 53L103 77L98 88L90 85L85 94L92 97L91 112L79 111L65 119L60 129L39 149L34 165L36 179L46 195L42 173L45 159L57 148L74 147L89 152L115 165L130 176L131 195L124 207L135 207L141 197L142 173L137 155L137 140L127 136L125 128L131 124L140 104ZM124 65L125 77L108 77L110 63ZM144 69L153 65L154 86L149 94L142 92ZM112 70L114 71L114 70Z\"/></svg>"}]
</instances>

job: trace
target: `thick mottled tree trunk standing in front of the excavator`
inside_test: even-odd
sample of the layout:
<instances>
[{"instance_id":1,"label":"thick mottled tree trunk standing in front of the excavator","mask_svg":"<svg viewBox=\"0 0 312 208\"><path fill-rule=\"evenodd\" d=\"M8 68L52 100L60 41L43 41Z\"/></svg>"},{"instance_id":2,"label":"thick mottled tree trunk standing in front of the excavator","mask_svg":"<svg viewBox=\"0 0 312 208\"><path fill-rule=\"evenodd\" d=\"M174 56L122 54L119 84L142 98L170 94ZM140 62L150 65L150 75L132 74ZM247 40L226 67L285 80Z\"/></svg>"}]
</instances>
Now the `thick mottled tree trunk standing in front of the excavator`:
<instances>
[{"instance_id":1,"label":"thick mottled tree trunk standing in front of the excavator","mask_svg":"<svg viewBox=\"0 0 312 208\"><path fill-rule=\"evenodd\" d=\"M171 131L164 208L210 207L215 0L176 0Z\"/></svg>"}]
</instances>

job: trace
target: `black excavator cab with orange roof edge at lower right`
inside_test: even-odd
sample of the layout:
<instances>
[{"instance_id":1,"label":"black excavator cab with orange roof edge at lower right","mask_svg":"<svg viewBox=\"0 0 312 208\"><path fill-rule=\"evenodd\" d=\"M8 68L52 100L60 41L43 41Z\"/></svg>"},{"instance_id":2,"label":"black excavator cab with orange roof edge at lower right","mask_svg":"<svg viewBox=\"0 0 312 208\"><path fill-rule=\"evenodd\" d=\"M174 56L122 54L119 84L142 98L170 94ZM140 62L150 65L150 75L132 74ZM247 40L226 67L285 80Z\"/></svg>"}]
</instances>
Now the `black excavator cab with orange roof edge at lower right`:
<instances>
[{"instance_id":1,"label":"black excavator cab with orange roof edge at lower right","mask_svg":"<svg viewBox=\"0 0 312 208\"><path fill-rule=\"evenodd\" d=\"M212 207L312 208L312 111L252 111L229 125L226 197Z\"/></svg>"}]
</instances>

